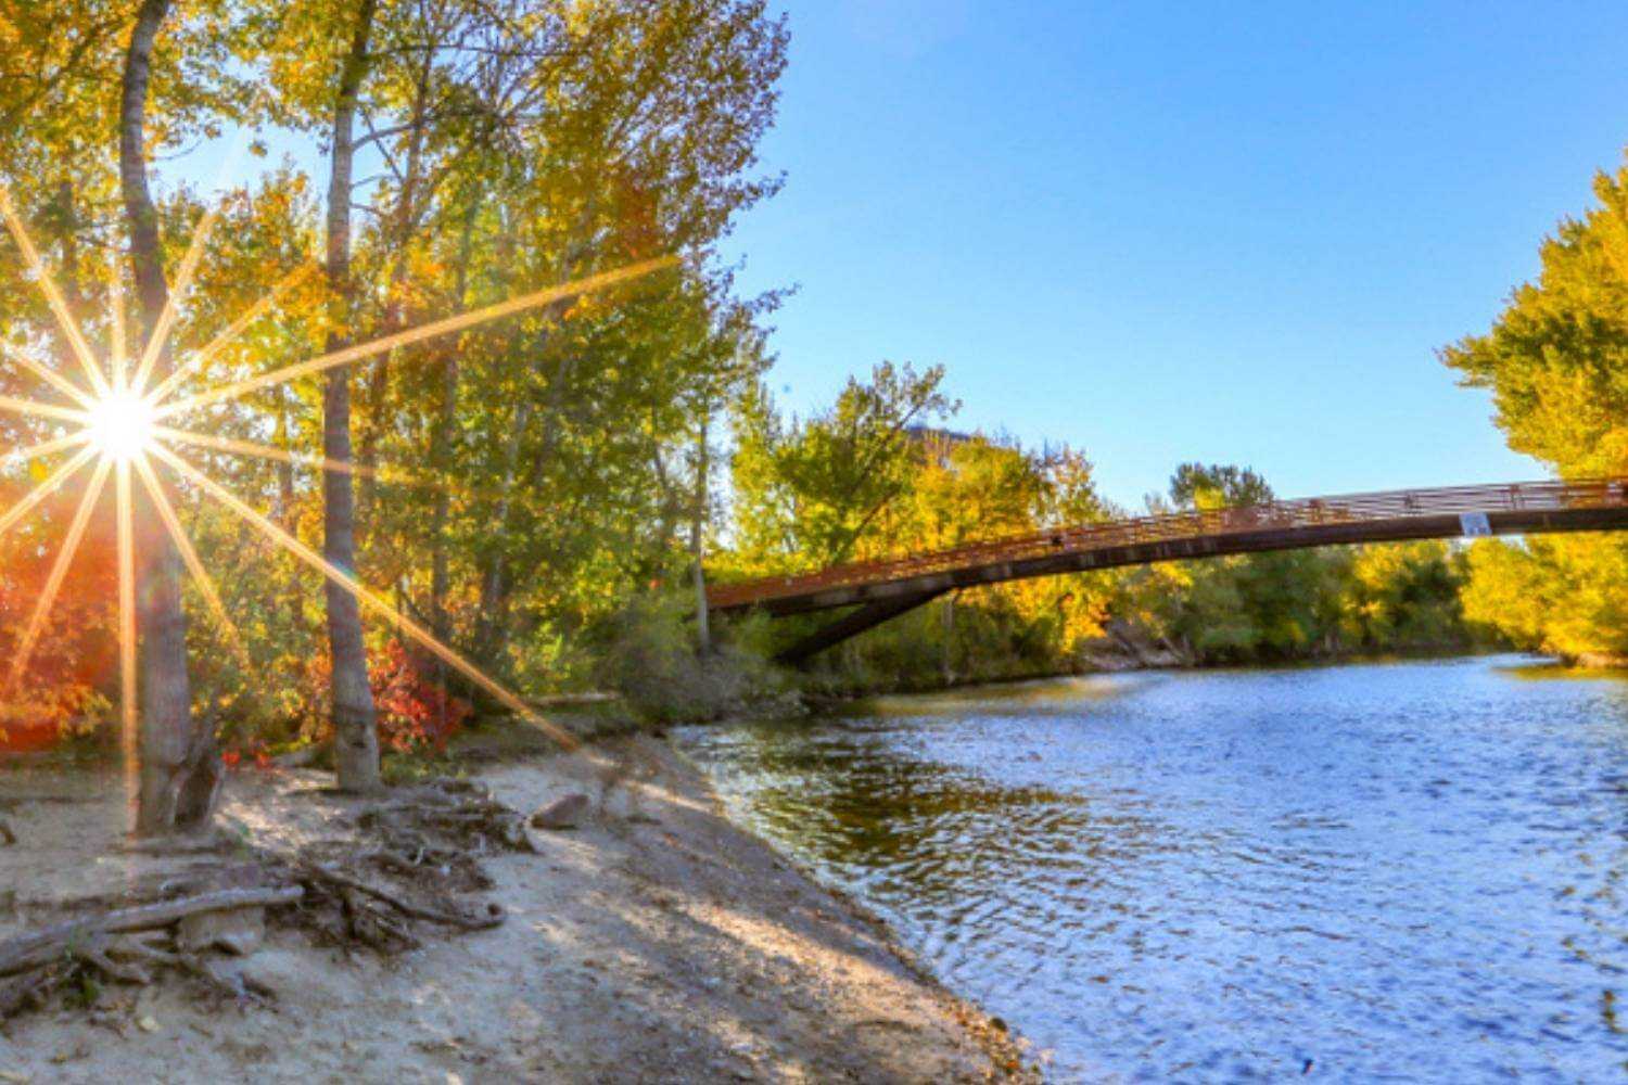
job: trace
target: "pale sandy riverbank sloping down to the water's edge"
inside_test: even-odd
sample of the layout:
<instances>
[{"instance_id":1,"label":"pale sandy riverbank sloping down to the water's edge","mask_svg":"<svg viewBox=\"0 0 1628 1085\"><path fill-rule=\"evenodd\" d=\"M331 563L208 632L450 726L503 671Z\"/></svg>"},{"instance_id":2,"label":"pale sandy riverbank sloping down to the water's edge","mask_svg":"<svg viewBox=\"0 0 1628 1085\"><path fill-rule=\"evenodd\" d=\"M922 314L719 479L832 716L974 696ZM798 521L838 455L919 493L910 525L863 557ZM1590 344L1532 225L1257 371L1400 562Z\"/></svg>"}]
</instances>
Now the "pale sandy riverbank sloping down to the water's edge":
<instances>
[{"instance_id":1,"label":"pale sandy riverbank sloping down to the water's edge","mask_svg":"<svg viewBox=\"0 0 1628 1085\"><path fill-rule=\"evenodd\" d=\"M274 1007L208 1009L182 983L114 987L106 1012L52 1009L0 1031L0 1082L980 1082L1016 1049L923 979L850 904L721 817L664 742L607 750L630 769L542 854L485 861L508 911L487 932L379 960L274 926L239 965ZM575 756L482 769L531 810L601 784ZM244 773L223 821L300 848L355 804L314 773ZM0 774L0 939L63 901L153 877L122 848L116 778ZM194 859L195 861L195 859Z\"/></svg>"}]
</instances>

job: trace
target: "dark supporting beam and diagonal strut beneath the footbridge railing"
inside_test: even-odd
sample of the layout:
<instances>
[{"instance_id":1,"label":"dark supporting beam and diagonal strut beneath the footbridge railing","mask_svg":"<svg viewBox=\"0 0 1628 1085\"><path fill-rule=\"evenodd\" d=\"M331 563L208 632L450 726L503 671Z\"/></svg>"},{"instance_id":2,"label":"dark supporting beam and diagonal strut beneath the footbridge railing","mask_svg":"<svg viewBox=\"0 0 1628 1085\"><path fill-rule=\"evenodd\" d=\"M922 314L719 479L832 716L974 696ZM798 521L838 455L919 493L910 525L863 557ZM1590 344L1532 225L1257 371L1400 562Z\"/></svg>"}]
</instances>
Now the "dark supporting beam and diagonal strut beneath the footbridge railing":
<instances>
[{"instance_id":1,"label":"dark supporting beam and diagonal strut beneath the footbridge railing","mask_svg":"<svg viewBox=\"0 0 1628 1085\"><path fill-rule=\"evenodd\" d=\"M1493 535L1628 530L1628 506L1495 511L1486 512L1486 522ZM858 610L803 638L777 657L778 662L801 665L827 647L858 636L959 587L978 587L1035 576L1086 573L1188 558L1219 558L1273 550L1309 550L1314 547L1348 543L1459 538L1462 535L1464 521L1457 514L1299 524L1294 527L1244 532L1231 530L1216 535L1193 535L1188 538L1127 543L1014 561L949 568L881 582L842 584L801 595L713 607L713 612L729 613L759 608L773 617L785 617L838 607L858 607Z\"/></svg>"}]
</instances>

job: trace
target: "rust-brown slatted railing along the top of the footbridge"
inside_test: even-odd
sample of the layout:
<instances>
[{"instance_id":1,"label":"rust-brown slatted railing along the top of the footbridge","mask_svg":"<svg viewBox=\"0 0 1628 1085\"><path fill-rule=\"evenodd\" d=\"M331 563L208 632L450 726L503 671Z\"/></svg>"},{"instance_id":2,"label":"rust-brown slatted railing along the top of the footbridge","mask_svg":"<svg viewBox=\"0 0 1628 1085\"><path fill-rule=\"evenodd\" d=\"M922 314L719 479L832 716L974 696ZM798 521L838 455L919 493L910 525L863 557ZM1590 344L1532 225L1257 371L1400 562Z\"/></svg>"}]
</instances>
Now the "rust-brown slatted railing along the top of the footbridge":
<instances>
[{"instance_id":1,"label":"rust-brown slatted railing along the top of the footbridge","mask_svg":"<svg viewBox=\"0 0 1628 1085\"><path fill-rule=\"evenodd\" d=\"M1138 516L964 543L920 555L853 561L819 573L716 584L708 589L707 599L713 607L742 607L772 599L809 595L829 587L882 584L949 569L1138 543L1241 535L1327 524L1581 508L1628 508L1628 480L1594 478L1488 486L1441 486L1433 490L1387 490L1193 512Z\"/></svg>"}]
</instances>

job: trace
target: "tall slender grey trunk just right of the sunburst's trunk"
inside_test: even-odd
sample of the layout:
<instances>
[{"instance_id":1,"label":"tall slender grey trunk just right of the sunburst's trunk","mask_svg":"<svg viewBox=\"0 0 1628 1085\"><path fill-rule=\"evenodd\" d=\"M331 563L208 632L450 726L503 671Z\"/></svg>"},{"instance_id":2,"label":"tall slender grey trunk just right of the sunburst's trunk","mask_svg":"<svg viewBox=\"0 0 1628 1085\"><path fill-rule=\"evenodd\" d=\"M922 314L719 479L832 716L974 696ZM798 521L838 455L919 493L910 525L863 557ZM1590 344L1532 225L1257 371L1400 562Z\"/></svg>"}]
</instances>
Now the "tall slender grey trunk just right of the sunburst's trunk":
<instances>
[{"instance_id":1,"label":"tall slender grey trunk just right of the sunburst's trunk","mask_svg":"<svg viewBox=\"0 0 1628 1085\"><path fill-rule=\"evenodd\" d=\"M334 101L334 166L327 185L327 280L342 304L344 333L330 335L327 348L350 343L353 294L350 281L350 190L355 166L352 142L357 99L368 70L368 39L378 0L361 0L357 26L345 54L339 94ZM322 454L350 462L350 368L329 369L322 389ZM340 569L357 568L357 509L348 472L322 472L322 555ZM361 607L357 597L329 581L327 644L332 659L334 768L339 787L352 792L379 787L379 737L368 685L368 651L361 641Z\"/></svg>"}]
</instances>

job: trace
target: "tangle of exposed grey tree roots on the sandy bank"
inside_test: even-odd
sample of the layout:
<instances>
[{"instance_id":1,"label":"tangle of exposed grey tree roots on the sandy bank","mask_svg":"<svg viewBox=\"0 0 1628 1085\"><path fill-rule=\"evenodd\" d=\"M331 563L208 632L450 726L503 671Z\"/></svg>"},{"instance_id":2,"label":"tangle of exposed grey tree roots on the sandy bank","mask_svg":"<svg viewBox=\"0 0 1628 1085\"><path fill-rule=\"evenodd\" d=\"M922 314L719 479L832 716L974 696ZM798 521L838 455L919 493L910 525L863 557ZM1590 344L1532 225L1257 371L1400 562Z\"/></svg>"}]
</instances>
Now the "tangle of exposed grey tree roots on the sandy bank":
<instances>
[{"instance_id":1,"label":"tangle of exposed grey tree roots on the sandy bank","mask_svg":"<svg viewBox=\"0 0 1628 1085\"><path fill-rule=\"evenodd\" d=\"M259 852L249 862L213 862L181 877L81 900L90 914L0 942L0 1020L77 992L86 1005L107 984L148 986L161 974L189 976L205 997L236 1005L272 999L243 974L213 968L208 950L230 939L187 934L210 913L265 909L283 927L340 948L396 955L422 945L422 927L474 932L503 922L497 904L464 896L492 887L480 857L534 851L526 820L480 784L440 779L400 789L357 815L358 831L300 856ZM5 839L0 825L0 839ZM208 851L200 838L166 854ZM241 854L241 852L239 852ZM319 856L319 857L314 857ZM213 922L213 921L204 921ZM259 937L259 917L256 934ZM241 950L239 950L241 952Z\"/></svg>"}]
</instances>

